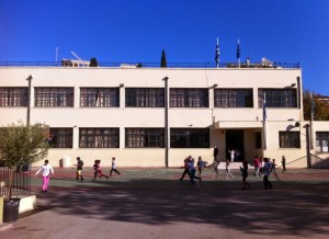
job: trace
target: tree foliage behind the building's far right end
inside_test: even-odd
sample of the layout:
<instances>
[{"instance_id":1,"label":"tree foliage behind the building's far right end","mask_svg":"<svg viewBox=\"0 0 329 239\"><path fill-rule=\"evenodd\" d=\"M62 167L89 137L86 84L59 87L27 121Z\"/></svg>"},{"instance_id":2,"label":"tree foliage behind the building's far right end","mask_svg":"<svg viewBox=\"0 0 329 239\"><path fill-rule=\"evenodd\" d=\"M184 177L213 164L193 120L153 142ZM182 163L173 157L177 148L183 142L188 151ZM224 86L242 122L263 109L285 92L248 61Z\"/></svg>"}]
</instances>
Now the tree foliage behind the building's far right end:
<instances>
[{"instance_id":1,"label":"tree foliage behind the building's far right end","mask_svg":"<svg viewBox=\"0 0 329 239\"><path fill-rule=\"evenodd\" d=\"M304 105L304 120L310 121L311 118L311 98L314 100L314 121L329 121L329 106L326 101L321 100L321 95L315 92L306 90L303 93L303 105Z\"/></svg>"}]
</instances>

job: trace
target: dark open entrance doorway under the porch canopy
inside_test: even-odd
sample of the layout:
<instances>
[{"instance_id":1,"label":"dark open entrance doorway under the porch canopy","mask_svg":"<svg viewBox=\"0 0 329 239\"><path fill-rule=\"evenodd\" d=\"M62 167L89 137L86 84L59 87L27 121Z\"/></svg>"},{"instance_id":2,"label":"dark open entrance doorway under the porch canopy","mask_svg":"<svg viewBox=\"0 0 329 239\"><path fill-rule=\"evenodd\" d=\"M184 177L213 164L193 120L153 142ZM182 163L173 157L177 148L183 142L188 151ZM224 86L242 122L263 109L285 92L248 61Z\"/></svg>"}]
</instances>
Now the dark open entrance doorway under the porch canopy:
<instances>
[{"instance_id":1,"label":"dark open entrance doorway under the porch canopy","mask_svg":"<svg viewBox=\"0 0 329 239\"><path fill-rule=\"evenodd\" d=\"M245 159L245 140L243 130L241 129L228 129L226 130L226 157L230 159L229 150L236 151L235 161L242 161Z\"/></svg>"}]
</instances>

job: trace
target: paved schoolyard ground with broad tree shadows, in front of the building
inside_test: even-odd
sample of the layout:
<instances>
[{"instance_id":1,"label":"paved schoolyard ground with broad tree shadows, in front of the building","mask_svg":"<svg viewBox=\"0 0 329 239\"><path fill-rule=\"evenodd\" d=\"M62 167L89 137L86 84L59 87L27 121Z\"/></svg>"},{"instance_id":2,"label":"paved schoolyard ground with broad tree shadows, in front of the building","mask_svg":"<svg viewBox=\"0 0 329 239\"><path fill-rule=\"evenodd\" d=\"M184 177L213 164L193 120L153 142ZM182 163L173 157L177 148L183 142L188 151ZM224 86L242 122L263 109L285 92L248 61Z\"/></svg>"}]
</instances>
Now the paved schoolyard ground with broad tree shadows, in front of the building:
<instances>
[{"instance_id":1,"label":"paved schoolyard ground with broad tree shadows, in front of the building","mask_svg":"<svg viewBox=\"0 0 329 239\"><path fill-rule=\"evenodd\" d=\"M36 169L32 170L32 174ZM109 174L109 169L103 170ZM272 190L249 170L202 182L179 181L183 169L120 169L122 175L75 181L75 169L55 168L47 193L32 178L37 209L0 228L1 238L328 238L329 170L272 173Z\"/></svg>"}]
</instances>

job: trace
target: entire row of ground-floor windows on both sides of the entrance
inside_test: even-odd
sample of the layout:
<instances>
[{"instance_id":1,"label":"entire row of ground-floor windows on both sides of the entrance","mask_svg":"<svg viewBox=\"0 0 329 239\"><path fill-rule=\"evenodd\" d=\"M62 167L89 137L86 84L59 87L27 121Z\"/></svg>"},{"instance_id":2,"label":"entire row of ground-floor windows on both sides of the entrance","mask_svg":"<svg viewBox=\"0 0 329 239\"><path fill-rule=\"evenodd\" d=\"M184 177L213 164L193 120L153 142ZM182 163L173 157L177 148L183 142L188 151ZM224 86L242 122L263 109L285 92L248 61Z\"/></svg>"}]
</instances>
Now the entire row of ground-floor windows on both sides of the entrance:
<instances>
[{"instance_id":1,"label":"entire row of ground-floor windows on both sides of the entrance","mask_svg":"<svg viewBox=\"0 0 329 239\"><path fill-rule=\"evenodd\" d=\"M118 128L80 128L79 148L118 148ZM72 148L72 128L50 128L54 148ZM254 134L256 148L262 148L261 133ZM280 148L300 148L299 132L279 132ZM316 150L328 152L329 132L316 133ZM126 148L164 148L163 128L125 128ZM208 128L171 128L170 148L209 148Z\"/></svg>"}]
</instances>

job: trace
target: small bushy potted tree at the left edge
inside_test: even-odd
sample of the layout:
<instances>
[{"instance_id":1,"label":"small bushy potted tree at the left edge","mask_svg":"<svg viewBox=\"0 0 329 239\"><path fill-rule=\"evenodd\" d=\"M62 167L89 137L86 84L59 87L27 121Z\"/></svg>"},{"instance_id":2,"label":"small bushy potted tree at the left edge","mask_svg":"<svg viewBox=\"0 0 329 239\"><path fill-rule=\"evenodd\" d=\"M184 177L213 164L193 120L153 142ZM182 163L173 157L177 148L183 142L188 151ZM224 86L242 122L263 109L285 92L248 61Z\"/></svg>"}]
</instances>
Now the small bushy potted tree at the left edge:
<instances>
[{"instance_id":1,"label":"small bushy potted tree at the left edge","mask_svg":"<svg viewBox=\"0 0 329 239\"><path fill-rule=\"evenodd\" d=\"M42 125L25 126L19 123L0 128L0 164L10 169L7 200L11 198L15 168L44 159L48 148L47 135Z\"/></svg>"}]
</instances>

